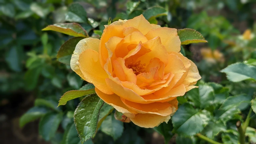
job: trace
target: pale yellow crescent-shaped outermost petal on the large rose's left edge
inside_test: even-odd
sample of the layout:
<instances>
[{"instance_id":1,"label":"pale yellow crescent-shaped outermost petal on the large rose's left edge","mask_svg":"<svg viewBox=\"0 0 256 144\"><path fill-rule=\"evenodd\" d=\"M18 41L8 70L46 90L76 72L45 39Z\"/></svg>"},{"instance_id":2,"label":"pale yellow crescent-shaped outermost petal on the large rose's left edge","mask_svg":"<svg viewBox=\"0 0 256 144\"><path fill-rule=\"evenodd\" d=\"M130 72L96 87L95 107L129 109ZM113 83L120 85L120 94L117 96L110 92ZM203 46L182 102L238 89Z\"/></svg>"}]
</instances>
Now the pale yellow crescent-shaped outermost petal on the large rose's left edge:
<instances>
[{"instance_id":1,"label":"pale yellow crescent-shaped outermost petal on the large rose's left edge","mask_svg":"<svg viewBox=\"0 0 256 144\"><path fill-rule=\"evenodd\" d=\"M85 38L78 42L74 54L72 54L71 61L70 61L70 67L71 69L76 72L80 77L85 79L83 76L80 68L79 68L79 55L85 51L86 49L92 49L98 52L99 50L99 44L100 40L96 38Z\"/></svg>"}]
</instances>

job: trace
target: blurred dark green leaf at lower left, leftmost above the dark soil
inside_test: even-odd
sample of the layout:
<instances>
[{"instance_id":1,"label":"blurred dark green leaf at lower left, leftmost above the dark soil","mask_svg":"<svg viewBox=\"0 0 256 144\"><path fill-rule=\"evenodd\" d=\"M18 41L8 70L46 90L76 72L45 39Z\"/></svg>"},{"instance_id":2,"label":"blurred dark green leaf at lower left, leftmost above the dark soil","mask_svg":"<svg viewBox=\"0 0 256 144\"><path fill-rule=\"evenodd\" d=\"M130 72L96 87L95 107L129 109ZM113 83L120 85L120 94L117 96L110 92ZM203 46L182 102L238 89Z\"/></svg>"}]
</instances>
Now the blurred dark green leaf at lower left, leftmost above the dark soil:
<instances>
[{"instance_id":1,"label":"blurred dark green leaf at lower left, leftmost above the dark soil","mask_svg":"<svg viewBox=\"0 0 256 144\"><path fill-rule=\"evenodd\" d=\"M20 128L26 125L29 122L32 122L36 119L44 116L48 110L44 107L32 107L25 114L20 117Z\"/></svg>"}]
</instances>

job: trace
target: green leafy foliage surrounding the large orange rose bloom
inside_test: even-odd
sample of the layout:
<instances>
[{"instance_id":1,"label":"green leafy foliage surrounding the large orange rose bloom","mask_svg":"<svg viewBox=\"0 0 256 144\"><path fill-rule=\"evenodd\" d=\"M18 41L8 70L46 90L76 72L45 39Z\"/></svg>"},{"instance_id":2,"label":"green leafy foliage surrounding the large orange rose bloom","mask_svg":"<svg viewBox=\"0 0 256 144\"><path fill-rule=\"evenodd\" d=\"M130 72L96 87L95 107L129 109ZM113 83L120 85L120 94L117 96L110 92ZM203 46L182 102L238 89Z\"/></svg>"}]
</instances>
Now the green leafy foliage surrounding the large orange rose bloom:
<instances>
[{"instance_id":1,"label":"green leafy foliage surrounding the large orange rose bloom","mask_svg":"<svg viewBox=\"0 0 256 144\"><path fill-rule=\"evenodd\" d=\"M182 47L182 53L196 63L202 76L197 83L199 88L179 97L179 110L168 124L153 129L116 120L115 110L104 104L99 109L103 113L101 127L85 143L209 143L200 137L204 135L219 143L236 144L236 122L244 124L248 115L251 120L245 141L255 143L255 0L0 0L0 111L8 116L6 108L19 109L21 103L28 101L29 110L16 115L23 130L29 122L40 119L41 141L81 143L73 116L80 101L91 94L86 90L93 85L86 85L71 70L69 61L74 47L84 37L100 38L110 18L113 22L140 14L150 23L195 29L208 41ZM76 22L81 27L72 25L74 31L68 35L42 31L63 22ZM254 38L242 40L245 29L251 29ZM67 40L69 43L63 45ZM218 49L224 62L203 59L202 47ZM70 90L79 90L79 96L57 107L61 96ZM155 135L157 138L152 138ZM1 141L7 143L5 139Z\"/></svg>"}]
</instances>

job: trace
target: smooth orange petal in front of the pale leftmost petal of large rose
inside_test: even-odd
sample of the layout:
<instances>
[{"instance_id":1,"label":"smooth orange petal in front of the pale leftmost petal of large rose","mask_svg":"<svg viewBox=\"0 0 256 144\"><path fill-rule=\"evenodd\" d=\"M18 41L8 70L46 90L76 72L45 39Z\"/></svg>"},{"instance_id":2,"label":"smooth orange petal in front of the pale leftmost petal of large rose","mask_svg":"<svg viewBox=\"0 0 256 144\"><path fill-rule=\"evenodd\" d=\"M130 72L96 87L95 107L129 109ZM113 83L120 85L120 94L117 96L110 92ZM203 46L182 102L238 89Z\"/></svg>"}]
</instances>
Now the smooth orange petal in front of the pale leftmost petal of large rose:
<instances>
[{"instance_id":1,"label":"smooth orange petal in front of the pale leftmost petal of large rose","mask_svg":"<svg viewBox=\"0 0 256 144\"><path fill-rule=\"evenodd\" d=\"M113 94L107 87L105 79L108 78L106 71L101 67L98 52L87 49L79 55L79 67L84 80L93 83L96 88L106 94Z\"/></svg>"}]
</instances>

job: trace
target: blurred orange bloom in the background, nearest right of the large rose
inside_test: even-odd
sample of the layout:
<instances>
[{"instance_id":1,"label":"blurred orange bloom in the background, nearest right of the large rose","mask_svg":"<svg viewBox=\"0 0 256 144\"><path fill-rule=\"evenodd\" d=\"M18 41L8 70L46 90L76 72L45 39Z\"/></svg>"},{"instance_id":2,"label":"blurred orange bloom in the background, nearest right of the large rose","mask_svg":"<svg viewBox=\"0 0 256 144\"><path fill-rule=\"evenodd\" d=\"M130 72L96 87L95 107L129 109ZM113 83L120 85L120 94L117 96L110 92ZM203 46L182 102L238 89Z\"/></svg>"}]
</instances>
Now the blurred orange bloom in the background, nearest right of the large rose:
<instances>
[{"instance_id":1,"label":"blurred orange bloom in the background, nearest right of the large rose","mask_svg":"<svg viewBox=\"0 0 256 144\"><path fill-rule=\"evenodd\" d=\"M224 55L217 49L213 50L211 48L202 48L200 49L203 59L211 63L224 62Z\"/></svg>"}]
</instances>

